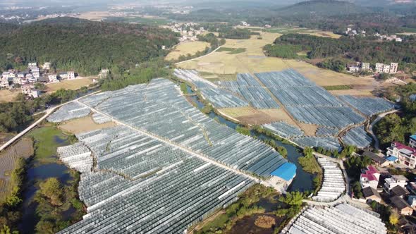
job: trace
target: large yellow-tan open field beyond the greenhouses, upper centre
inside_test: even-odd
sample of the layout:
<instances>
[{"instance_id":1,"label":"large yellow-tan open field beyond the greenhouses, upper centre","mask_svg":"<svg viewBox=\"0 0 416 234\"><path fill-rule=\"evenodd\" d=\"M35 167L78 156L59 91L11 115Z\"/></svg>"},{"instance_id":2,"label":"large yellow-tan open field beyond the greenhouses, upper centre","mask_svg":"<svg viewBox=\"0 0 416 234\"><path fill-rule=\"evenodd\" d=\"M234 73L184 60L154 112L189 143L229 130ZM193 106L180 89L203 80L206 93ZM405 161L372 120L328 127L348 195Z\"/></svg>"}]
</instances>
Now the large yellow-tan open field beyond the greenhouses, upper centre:
<instances>
[{"instance_id":1,"label":"large yellow-tan open field beyond the greenhouses, upper centre","mask_svg":"<svg viewBox=\"0 0 416 234\"><path fill-rule=\"evenodd\" d=\"M200 72L214 74L258 73L293 68L310 78L317 85L367 85L377 86L374 79L357 78L353 75L336 73L331 70L317 68L310 63L294 59L282 59L264 56L264 45L274 42L278 33L260 32L262 39L253 36L250 39L227 39L224 47L245 48L240 54L228 54L227 51L214 52L209 56L198 58L178 65L180 68L195 69ZM209 78L215 78L210 75Z\"/></svg>"}]
</instances>

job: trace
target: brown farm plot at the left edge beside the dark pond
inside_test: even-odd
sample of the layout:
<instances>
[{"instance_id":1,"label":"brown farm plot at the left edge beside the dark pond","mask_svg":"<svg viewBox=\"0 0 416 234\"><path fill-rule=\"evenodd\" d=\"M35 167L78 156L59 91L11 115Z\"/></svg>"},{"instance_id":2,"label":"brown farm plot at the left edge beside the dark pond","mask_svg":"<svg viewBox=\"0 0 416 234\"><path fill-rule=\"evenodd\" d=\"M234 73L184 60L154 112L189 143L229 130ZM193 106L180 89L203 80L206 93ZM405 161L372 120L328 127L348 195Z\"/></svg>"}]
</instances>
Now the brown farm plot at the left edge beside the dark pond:
<instances>
[{"instance_id":1,"label":"brown farm plot at the left edge beside the dark pond","mask_svg":"<svg viewBox=\"0 0 416 234\"><path fill-rule=\"evenodd\" d=\"M23 138L8 147L0 154L0 202L11 194L10 173L15 167L16 160L25 159L33 155L33 142L30 138Z\"/></svg>"}]
</instances>

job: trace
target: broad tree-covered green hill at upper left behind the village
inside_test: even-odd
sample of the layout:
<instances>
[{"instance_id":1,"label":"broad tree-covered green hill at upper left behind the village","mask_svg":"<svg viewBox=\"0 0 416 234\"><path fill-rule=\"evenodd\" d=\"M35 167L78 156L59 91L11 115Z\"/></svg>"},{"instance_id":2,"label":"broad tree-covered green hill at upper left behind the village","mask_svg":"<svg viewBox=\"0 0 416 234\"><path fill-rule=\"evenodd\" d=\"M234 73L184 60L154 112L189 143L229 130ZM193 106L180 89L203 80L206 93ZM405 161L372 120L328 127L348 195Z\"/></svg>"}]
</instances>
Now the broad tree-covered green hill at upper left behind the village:
<instances>
[{"instance_id":1,"label":"broad tree-covered green hill at upper left behind the village","mask_svg":"<svg viewBox=\"0 0 416 234\"><path fill-rule=\"evenodd\" d=\"M170 30L149 25L54 18L29 25L0 23L0 69L23 68L50 61L59 70L81 75L102 68L128 70L135 64L164 56L162 45L177 39Z\"/></svg>"}]
</instances>

